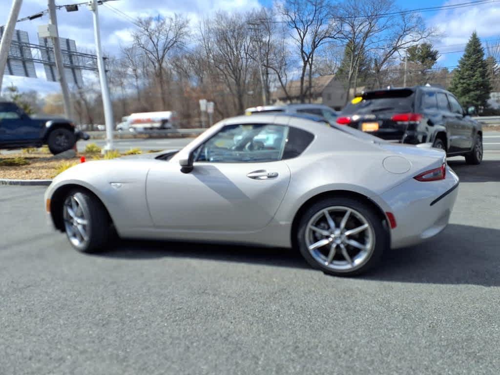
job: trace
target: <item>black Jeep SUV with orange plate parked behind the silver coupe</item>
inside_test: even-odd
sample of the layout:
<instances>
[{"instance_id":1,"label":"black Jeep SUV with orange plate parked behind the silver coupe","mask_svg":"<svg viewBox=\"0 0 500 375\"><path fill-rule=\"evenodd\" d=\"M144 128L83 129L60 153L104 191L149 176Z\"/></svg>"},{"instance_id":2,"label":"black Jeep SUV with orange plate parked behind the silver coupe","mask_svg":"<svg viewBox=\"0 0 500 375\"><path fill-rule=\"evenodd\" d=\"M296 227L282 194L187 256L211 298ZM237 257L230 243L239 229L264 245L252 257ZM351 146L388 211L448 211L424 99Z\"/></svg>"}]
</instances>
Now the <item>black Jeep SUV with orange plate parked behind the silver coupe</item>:
<instances>
[{"instance_id":1,"label":"black Jeep SUV with orange plate parked behind the silver coupe","mask_svg":"<svg viewBox=\"0 0 500 375\"><path fill-rule=\"evenodd\" d=\"M432 142L448 156L482 160L482 127L450 92L432 86L387 88L354 97L337 123L402 143Z\"/></svg>"}]
</instances>

